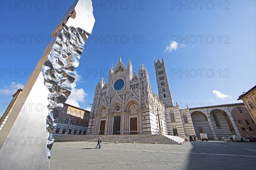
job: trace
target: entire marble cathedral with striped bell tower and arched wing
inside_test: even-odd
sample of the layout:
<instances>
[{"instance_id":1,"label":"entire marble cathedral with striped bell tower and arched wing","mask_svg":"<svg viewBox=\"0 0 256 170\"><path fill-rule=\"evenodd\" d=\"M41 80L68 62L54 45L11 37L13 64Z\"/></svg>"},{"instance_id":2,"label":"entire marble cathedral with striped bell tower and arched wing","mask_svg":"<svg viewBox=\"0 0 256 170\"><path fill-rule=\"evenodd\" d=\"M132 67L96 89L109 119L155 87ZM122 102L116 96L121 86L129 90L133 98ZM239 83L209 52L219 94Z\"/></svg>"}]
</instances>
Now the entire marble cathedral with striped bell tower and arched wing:
<instances>
[{"instance_id":1,"label":"entire marble cathedral with striped bell tower and arched wing","mask_svg":"<svg viewBox=\"0 0 256 170\"><path fill-rule=\"evenodd\" d=\"M185 138L207 133L213 139L240 134L231 110L244 107L243 104L180 109L177 103L173 104L163 59L154 62L154 67L158 95L151 91L148 71L143 64L137 73L133 72L131 59L127 67L121 57L115 68L112 65L108 83L102 78L96 85L89 134L148 133Z\"/></svg>"}]
</instances>

